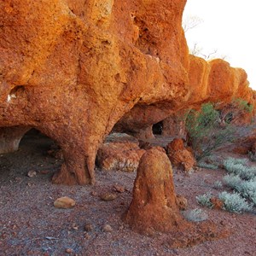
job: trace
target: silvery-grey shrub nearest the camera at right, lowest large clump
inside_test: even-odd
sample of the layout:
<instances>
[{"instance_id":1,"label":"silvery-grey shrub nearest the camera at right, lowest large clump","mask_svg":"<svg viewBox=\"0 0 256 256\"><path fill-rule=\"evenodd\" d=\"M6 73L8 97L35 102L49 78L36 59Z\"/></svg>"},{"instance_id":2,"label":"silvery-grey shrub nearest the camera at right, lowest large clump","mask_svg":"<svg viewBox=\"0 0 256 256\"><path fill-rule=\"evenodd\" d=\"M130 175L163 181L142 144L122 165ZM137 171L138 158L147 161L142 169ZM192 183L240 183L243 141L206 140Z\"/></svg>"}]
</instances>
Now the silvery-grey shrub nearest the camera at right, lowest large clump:
<instances>
[{"instance_id":1,"label":"silvery-grey shrub nearest the camera at right, lowest large clump","mask_svg":"<svg viewBox=\"0 0 256 256\"><path fill-rule=\"evenodd\" d=\"M218 198L224 203L224 210L228 212L249 212L252 210L252 205L248 204L246 199L238 193L228 193L226 191L218 194Z\"/></svg>"}]
</instances>

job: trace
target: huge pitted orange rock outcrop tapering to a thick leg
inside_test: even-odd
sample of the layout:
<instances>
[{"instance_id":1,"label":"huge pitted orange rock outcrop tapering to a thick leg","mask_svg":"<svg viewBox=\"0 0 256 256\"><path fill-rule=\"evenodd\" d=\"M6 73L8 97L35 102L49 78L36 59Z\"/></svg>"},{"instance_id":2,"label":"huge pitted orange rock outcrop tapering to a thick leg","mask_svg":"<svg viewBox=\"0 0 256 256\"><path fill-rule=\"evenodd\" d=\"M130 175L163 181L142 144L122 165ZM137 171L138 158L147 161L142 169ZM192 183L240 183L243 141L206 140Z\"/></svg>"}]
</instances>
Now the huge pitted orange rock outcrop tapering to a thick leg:
<instances>
[{"instance_id":1,"label":"huge pitted orange rock outcrop tapering to a thick leg","mask_svg":"<svg viewBox=\"0 0 256 256\"><path fill-rule=\"evenodd\" d=\"M160 113L187 100L185 2L1 1L0 126L60 145L55 183L93 183L99 144L135 105Z\"/></svg>"}]
</instances>

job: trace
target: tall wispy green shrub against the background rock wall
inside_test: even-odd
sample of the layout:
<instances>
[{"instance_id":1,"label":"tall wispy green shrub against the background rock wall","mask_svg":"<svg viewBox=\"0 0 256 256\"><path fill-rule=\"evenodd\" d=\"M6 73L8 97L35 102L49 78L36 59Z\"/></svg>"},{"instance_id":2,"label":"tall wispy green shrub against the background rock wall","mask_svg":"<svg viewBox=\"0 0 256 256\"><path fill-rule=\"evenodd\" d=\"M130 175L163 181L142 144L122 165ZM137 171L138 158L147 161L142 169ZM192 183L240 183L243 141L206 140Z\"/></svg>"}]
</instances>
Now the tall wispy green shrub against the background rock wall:
<instances>
[{"instance_id":1,"label":"tall wispy green shrub against the background rock wall","mask_svg":"<svg viewBox=\"0 0 256 256\"><path fill-rule=\"evenodd\" d=\"M212 103L203 104L200 111L191 110L185 125L188 143L194 149L197 160L210 155L212 150L234 138L233 126L220 126L219 113Z\"/></svg>"}]
</instances>

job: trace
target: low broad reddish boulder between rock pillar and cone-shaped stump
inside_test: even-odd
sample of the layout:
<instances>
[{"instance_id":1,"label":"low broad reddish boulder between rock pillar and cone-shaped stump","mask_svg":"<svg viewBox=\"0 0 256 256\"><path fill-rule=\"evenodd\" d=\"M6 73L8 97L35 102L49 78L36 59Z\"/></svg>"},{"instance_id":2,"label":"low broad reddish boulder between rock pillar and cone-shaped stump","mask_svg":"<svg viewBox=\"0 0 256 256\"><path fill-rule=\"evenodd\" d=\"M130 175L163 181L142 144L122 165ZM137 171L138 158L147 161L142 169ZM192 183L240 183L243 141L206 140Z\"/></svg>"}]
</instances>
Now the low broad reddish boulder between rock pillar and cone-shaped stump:
<instances>
[{"instance_id":1,"label":"low broad reddish boulder between rock pillar and cone-shaped stump","mask_svg":"<svg viewBox=\"0 0 256 256\"><path fill-rule=\"evenodd\" d=\"M113 133L100 146L96 162L103 171L136 172L144 153L135 138Z\"/></svg>"}]
</instances>

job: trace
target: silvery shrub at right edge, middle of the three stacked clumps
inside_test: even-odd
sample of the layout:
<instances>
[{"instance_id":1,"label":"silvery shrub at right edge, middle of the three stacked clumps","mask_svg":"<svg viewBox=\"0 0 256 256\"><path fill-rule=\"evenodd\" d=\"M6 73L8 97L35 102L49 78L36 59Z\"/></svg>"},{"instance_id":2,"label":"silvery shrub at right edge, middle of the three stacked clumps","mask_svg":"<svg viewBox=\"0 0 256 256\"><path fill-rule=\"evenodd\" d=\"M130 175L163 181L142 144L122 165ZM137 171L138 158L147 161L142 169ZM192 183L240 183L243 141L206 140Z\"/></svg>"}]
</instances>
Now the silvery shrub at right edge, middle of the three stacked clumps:
<instances>
[{"instance_id":1,"label":"silvery shrub at right edge, middle of the three stacked clumps","mask_svg":"<svg viewBox=\"0 0 256 256\"><path fill-rule=\"evenodd\" d=\"M242 180L237 175L224 176L224 183L231 189L235 189L242 197L247 198L256 206L256 177L251 180Z\"/></svg>"}]
</instances>

